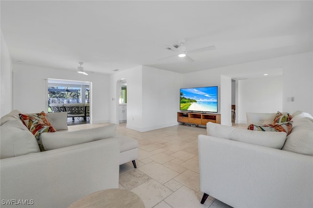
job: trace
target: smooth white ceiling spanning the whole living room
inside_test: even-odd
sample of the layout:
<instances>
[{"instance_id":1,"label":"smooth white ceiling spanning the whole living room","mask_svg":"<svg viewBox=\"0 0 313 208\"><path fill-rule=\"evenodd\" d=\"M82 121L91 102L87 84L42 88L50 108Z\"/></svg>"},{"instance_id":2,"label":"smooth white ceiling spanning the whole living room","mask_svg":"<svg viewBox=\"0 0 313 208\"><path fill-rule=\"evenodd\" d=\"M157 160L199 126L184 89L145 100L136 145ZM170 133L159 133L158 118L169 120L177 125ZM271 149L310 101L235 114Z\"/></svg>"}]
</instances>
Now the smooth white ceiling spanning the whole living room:
<instances>
[{"instance_id":1,"label":"smooth white ceiling spanning the whole living room","mask_svg":"<svg viewBox=\"0 0 313 208\"><path fill-rule=\"evenodd\" d=\"M313 51L313 1L0 1L13 61L112 74L148 65L188 73ZM215 51L172 57L164 44Z\"/></svg>"}]
</instances>

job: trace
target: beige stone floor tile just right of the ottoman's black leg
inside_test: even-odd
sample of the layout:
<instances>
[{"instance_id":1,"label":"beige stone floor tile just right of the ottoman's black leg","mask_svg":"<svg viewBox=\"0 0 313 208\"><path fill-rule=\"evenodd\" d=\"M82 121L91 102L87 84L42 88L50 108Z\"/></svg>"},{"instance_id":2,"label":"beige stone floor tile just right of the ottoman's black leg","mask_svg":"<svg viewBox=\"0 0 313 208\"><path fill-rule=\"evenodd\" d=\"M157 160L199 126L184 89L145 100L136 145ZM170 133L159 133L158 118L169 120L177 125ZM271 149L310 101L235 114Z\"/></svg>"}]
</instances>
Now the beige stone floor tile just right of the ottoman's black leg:
<instances>
[{"instance_id":1,"label":"beige stone floor tile just right of the ottoman's black leg","mask_svg":"<svg viewBox=\"0 0 313 208\"><path fill-rule=\"evenodd\" d=\"M179 175L178 172L164 167L157 162L149 163L145 166L139 167L138 169L155 179L160 184L164 184Z\"/></svg>"}]
</instances>

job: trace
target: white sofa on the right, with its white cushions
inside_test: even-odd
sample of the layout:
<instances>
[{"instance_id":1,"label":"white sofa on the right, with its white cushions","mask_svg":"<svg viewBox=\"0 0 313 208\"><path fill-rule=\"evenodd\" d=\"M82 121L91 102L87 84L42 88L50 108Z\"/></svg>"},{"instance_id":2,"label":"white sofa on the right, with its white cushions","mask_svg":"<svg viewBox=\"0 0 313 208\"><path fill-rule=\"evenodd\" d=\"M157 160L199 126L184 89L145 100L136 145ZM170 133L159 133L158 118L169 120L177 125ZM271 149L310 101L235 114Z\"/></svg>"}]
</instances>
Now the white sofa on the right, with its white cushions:
<instances>
[{"instance_id":1,"label":"white sofa on the right, with its white cushions","mask_svg":"<svg viewBox=\"0 0 313 208\"><path fill-rule=\"evenodd\" d=\"M234 208L313 207L313 117L295 112L291 121L287 137L208 123L198 136L201 203L211 195Z\"/></svg>"}]
</instances>

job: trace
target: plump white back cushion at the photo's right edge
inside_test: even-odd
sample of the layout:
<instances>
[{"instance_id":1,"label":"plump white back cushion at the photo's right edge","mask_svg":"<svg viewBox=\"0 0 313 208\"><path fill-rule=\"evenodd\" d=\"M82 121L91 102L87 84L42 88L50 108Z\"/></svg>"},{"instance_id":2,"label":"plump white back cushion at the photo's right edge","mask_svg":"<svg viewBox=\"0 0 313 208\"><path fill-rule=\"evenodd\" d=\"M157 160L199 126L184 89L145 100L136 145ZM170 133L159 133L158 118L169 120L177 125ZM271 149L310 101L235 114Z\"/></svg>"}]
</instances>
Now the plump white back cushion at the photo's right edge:
<instances>
[{"instance_id":1,"label":"plump white back cushion at the photo's right edge","mask_svg":"<svg viewBox=\"0 0 313 208\"><path fill-rule=\"evenodd\" d=\"M313 119L299 118L294 121L282 150L313 156Z\"/></svg>"}]
</instances>

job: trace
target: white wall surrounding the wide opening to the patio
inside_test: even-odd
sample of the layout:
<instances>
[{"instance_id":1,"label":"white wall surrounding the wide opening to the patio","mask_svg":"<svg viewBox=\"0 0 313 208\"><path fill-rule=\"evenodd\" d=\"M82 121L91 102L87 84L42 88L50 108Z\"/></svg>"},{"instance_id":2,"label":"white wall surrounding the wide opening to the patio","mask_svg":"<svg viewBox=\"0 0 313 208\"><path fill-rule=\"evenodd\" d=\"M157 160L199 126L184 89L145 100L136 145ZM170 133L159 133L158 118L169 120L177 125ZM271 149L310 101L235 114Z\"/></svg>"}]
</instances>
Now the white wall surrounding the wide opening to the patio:
<instances>
[{"instance_id":1,"label":"white wall surrounding the wide opening to the patio","mask_svg":"<svg viewBox=\"0 0 313 208\"><path fill-rule=\"evenodd\" d=\"M47 111L45 79L66 79L91 82L91 121L109 121L109 76L89 73L85 76L75 70L60 70L13 64L13 108L22 113Z\"/></svg>"}]
</instances>

